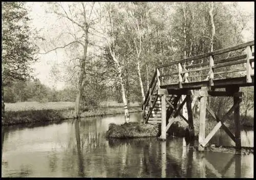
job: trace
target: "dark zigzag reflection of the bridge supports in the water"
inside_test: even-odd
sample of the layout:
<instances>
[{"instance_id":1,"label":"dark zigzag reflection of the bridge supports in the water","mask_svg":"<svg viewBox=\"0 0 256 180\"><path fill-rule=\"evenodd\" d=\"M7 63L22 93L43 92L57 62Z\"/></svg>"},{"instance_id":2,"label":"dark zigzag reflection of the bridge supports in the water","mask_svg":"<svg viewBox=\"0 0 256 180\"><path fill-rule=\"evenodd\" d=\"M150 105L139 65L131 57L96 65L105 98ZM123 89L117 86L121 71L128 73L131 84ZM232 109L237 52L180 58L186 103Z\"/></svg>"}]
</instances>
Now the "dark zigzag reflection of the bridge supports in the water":
<instances>
[{"instance_id":1,"label":"dark zigzag reflection of the bridge supports in the water","mask_svg":"<svg viewBox=\"0 0 256 180\"><path fill-rule=\"evenodd\" d=\"M216 177L225 177L225 174L227 173L227 171L229 170L229 168L231 167L232 164L234 164L235 169L234 169L234 174L235 177L241 177L241 155L237 155L237 154L231 154L228 153L227 154L227 158L228 156L230 156L230 158L228 159L228 161L226 161L224 164L219 164L218 163L218 168L214 166L214 164L211 164L210 160L214 161L216 159L216 156L218 156L218 153L221 152L217 152L217 154L201 154L201 153L197 153L196 151L194 151L193 148L189 148L186 144L184 144L183 140L183 147L182 147L182 157L177 156L175 154L177 154L177 150L175 150L175 148L169 147L167 146L167 150L166 150L166 142L161 142L161 160L162 160L162 176L161 177L166 177L166 164L167 164L167 160L166 160L166 154L169 151L168 155L169 157L172 159L171 161L174 162L180 162L181 164L181 170L184 169L185 172L182 172L181 175L185 176L185 177L206 177L206 169L207 171L209 171L211 174L214 174ZM172 142L169 142L172 143ZM174 142L174 144L177 142ZM186 159L186 161L185 161ZM199 160L198 165L195 165L194 163L198 162L197 159ZM226 160L226 159L225 159ZM218 161L216 161L218 162ZM199 174L195 174L198 170L197 166L199 166ZM181 176L180 176L181 177Z\"/></svg>"}]
</instances>

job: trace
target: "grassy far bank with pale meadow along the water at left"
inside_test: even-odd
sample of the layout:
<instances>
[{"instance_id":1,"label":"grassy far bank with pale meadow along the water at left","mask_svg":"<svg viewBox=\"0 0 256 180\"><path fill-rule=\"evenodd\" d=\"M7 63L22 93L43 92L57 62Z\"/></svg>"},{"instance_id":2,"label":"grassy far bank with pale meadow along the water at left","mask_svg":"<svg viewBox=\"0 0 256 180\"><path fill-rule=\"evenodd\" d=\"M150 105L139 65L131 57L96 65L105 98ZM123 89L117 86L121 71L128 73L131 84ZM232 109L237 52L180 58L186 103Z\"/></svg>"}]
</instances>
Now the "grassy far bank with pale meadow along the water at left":
<instances>
[{"instance_id":1,"label":"grassy far bank with pale meadow along the water at left","mask_svg":"<svg viewBox=\"0 0 256 180\"><path fill-rule=\"evenodd\" d=\"M140 106L129 107L130 113L141 111ZM103 115L122 114L123 107L104 106L104 107L82 107L81 117L93 117ZM50 122L75 117L73 102L21 102L7 103L5 119L2 125L14 125L35 122Z\"/></svg>"}]
</instances>

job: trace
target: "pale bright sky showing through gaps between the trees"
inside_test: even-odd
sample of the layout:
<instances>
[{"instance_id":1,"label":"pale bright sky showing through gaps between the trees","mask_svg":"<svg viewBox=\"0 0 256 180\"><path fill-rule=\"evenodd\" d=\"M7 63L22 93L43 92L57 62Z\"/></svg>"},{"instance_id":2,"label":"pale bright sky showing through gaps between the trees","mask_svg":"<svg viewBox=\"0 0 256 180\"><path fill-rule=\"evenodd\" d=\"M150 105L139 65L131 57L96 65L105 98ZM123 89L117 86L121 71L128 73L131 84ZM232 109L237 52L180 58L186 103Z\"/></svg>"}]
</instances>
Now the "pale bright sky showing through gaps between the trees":
<instances>
[{"instance_id":1,"label":"pale bright sky showing through gaps between the trees","mask_svg":"<svg viewBox=\"0 0 256 180\"><path fill-rule=\"evenodd\" d=\"M226 2L228 4L229 2ZM41 32L44 32L46 35L54 34L52 31L47 32L46 29L50 29L56 24L56 16L49 15L45 12L44 6L46 2L29 2L27 3L27 7L31 10L30 16L32 17L32 26L41 29ZM240 8L247 12L254 13L254 2L239 2ZM254 29L254 18L250 19L248 22L248 27L252 27ZM57 31L57 30L56 30ZM245 37L245 41L253 40L253 36L248 33L248 31L244 30L243 35ZM50 72L51 67L54 63L60 63L65 59L65 54L63 51L51 52L47 55L39 55L39 61L34 63L31 67L34 69L35 77L39 78L39 80L46 84L49 87L55 87L60 90L65 87L65 82L61 81L53 81L51 78Z\"/></svg>"}]
</instances>

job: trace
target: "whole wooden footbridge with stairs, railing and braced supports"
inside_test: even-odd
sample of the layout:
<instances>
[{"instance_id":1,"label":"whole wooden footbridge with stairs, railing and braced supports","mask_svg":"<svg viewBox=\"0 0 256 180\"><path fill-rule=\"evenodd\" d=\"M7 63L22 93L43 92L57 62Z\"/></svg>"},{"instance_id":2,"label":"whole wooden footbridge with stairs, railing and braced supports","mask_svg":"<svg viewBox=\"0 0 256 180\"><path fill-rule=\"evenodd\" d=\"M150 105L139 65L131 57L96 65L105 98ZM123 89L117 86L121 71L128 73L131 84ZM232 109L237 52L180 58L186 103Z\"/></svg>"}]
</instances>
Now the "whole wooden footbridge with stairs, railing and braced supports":
<instances>
[{"instance_id":1,"label":"whole wooden footbridge with stairs, railing and braced supports","mask_svg":"<svg viewBox=\"0 0 256 180\"><path fill-rule=\"evenodd\" d=\"M236 149L241 149L242 92L239 92L239 88L253 85L254 40L160 65L156 68L142 106L144 123L161 123L162 140L166 139L166 131L178 116L187 122L189 129L194 132L192 104L193 98L198 98L200 101L199 151L204 150L205 145L220 127L236 143ZM225 90L218 91L220 88ZM207 96L233 97L233 106L220 118L207 105ZM187 117L181 112L185 104ZM218 123L205 138L206 109ZM234 135L224 124L224 120L233 111L236 124Z\"/></svg>"}]
</instances>

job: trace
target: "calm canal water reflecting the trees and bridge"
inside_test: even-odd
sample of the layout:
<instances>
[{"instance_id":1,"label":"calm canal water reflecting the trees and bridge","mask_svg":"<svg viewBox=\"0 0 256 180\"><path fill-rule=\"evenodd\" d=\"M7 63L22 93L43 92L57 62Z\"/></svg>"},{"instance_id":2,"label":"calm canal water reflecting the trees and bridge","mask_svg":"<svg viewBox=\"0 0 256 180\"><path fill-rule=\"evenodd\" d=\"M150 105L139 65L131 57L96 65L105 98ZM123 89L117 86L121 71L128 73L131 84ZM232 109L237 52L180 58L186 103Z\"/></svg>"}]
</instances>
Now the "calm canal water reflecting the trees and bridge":
<instances>
[{"instance_id":1,"label":"calm canal water reflecting the trees and bridge","mask_svg":"<svg viewBox=\"0 0 256 180\"><path fill-rule=\"evenodd\" d=\"M2 177L253 177L253 153L199 153L173 137L107 140L109 124L123 122L115 115L2 127ZM242 146L253 147L253 137L242 131ZM234 145L222 131L212 143Z\"/></svg>"}]
</instances>

